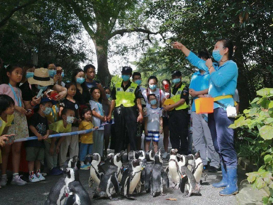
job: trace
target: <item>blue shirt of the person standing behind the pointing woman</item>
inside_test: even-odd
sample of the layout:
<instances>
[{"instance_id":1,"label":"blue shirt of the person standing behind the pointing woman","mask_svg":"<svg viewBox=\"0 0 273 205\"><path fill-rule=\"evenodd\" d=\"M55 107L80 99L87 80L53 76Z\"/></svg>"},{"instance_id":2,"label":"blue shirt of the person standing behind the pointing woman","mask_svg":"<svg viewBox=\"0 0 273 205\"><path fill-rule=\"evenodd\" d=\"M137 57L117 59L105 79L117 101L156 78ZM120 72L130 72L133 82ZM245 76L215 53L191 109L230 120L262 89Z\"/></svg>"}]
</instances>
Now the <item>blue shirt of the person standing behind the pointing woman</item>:
<instances>
[{"instance_id":1,"label":"blue shirt of the person standing behind the pointing woman","mask_svg":"<svg viewBox=\"0 0 273 205\"><path fill-rule=\"evenodd\" d=\"M205 72L203 75L200 73L200 70L192 74L191 83L189 84L189 89L194 89L195 91L206 90L209 88L209 72ZM195 112L195 102L194 100L198 99L198 97L193 98L191 111Z\"/></svg>"}]
</instances>

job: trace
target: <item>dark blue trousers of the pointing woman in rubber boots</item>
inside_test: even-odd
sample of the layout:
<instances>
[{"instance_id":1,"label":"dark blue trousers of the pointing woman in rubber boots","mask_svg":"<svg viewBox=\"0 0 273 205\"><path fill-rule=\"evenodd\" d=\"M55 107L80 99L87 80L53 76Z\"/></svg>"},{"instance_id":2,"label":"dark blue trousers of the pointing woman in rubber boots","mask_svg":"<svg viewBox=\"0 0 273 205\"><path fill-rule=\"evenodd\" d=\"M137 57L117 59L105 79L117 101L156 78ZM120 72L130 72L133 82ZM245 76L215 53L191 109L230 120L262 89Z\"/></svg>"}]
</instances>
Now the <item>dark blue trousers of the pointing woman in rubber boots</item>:
<instances>
[{"instance_id":1,"label":"dark blue trousers of the pointing woman in rubber boots","mask_svg":"<svg viewBox=\"0 0 273 205\"><path fill-rule=\"evenodd\" d=\"M228 118L227 112L222 108L216 108L208 114L208 126L215 151L219 154L221 163L227 168L237 167L237 154L234 148L234 130L228 128L234 123L235 118Z\"/></svg>"}]
</instances>

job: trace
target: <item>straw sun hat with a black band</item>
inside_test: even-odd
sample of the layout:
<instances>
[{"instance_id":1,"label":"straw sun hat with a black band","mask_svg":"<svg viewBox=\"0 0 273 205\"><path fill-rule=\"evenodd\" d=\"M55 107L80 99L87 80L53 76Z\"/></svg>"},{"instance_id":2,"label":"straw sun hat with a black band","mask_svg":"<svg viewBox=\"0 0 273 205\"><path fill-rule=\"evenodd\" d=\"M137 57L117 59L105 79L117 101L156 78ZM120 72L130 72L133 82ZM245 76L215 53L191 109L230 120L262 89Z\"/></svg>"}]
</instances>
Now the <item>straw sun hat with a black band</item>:
<instances>
[{"instance_id":1,"label":"straw sun hat with a black band","mask_svg":"<svg viewBox=\"0 0 273 205\"><path fill-rule=\"evenodd\" d=\"M28 78L29 84L37 84L40 86L49 86L53 85L54 81L49 77L48 69L46 68L37 68L34 70L34 75L31 78Z\"/></svg>"}]
</instances>

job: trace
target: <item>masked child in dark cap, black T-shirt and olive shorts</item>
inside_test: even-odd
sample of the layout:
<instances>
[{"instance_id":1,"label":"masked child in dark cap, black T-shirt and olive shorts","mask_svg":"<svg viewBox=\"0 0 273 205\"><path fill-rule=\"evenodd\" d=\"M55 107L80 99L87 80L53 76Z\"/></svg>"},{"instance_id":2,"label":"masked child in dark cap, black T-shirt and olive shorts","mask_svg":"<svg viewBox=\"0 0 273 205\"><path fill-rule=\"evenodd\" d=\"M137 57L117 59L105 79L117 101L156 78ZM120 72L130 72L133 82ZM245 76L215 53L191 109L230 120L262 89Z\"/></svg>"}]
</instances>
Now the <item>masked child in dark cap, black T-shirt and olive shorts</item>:
<instances>
[{"instance_id":1,"label":"masked child in dark cap, black T-shirt and olive shorts","mask_svg":"<svg viewBox=\"0 0 273 205\"><path fill-rule=\"evenodd\" d=\"M41 160L44 160L44 140L49 136L48 120L45 114L51 112L52 101L48 98L41 99L35 106L35 113L28 120L29 135L37 136L38 139L25 142L26 161L28 161L29 181L37 182L45 180L41 174Z\"/></svg>"}]
</instances>

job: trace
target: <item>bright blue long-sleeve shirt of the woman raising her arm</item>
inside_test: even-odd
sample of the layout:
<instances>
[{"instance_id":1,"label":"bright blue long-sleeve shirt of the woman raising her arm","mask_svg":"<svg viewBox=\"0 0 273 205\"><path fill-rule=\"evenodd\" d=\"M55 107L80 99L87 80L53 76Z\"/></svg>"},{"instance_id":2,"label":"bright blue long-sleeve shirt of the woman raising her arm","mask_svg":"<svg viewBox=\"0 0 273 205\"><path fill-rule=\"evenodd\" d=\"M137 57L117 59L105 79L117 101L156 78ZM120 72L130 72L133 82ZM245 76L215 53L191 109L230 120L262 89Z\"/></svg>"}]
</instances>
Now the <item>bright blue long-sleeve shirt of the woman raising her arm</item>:
<instances>
[{"instance_id":1,"label":"bright blue long-sleeve shirt of the woman raising her arm","mask_svg":"<svg viewBox=\"0 0 273 205\"><path fill-rule=\"evenodd\" d=\"M186 59L195 67L209 72L206 66L206 61L200 59L193 52L190 52ZM209 79L209 95L213 98L221 95L234 95L237 86L238 67L233 60L225 62L222 66L218 63L213 63L215 72L210 74ZM233 98L225 98L218 100L226 107L234 106ZM221 107L217 103L214 103L213 108ZM224 108L225 109L225 108Z\"/></svg>"}]
</instances>

